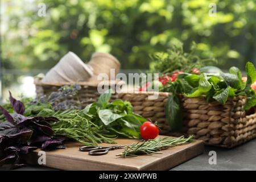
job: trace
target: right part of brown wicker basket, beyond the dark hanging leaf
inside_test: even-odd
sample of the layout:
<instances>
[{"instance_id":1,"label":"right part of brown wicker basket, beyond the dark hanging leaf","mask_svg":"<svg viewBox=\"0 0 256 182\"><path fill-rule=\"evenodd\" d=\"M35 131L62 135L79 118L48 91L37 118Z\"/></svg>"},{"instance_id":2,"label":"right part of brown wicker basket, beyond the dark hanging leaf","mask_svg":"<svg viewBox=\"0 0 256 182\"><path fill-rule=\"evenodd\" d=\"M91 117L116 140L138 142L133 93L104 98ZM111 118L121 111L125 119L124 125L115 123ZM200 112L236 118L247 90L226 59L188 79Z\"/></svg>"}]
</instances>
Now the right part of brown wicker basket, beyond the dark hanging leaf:
<instances>
[{"instance_id":1,"label":"right part of brown wicker basket, beyond the dark hanging leaf","mask_svg":"<svg viewBox=\"0 0 256 182\"><path fill-rule=\"evenodd\" d=\"M184 129L206 144L232 148L256 137L256 113L246 115L246 97L229 98L225 105L205 98L182 98Z\"/></svg>"}]
</instances>

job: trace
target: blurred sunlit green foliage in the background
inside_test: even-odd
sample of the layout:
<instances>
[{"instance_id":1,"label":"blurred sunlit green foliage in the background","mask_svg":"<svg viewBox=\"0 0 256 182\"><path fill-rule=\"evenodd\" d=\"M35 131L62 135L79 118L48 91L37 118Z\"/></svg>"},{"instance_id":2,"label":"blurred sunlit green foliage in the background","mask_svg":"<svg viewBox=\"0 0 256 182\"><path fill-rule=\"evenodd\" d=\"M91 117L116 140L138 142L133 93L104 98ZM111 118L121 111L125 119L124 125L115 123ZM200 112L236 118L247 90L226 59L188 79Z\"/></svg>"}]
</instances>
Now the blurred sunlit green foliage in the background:
<instances>
[{"instance_id":1,"label":"blurred sunlit green foliage in the background","mask_svg":"<svg viewBox=\"0 0 256 182\"><path fill-rule=\"evenodd\" d=\"M38 16L39 3L47 6ZM209 16L210 3L217 15ZM110 52L122 69L147 69L148 55L192 41L220 67L256 61L254 0L2 0L5 69L49 69L68 51L88 61Z\"/></svg>"}]
</instances>

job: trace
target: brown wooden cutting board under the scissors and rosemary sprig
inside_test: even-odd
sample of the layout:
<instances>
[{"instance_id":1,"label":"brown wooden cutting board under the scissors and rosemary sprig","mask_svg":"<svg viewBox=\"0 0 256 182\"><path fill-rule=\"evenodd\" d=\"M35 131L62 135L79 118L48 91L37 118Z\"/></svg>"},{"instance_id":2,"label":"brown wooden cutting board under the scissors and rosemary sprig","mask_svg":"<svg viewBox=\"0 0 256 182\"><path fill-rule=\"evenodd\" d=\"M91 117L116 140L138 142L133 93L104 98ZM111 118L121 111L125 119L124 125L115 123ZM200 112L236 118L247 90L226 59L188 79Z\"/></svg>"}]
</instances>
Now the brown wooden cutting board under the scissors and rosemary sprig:
<instances>
[{"instance_id":1,"label":"brown wooden cutting board under the scissors and rosemary sprig","mask_svg":"<svg viewBox=\"0 0 256 182\"><path fill-rule=\"evenodd\" d=\"M115 142L117 145L123 146L138 142L138 140L117 139ZM129 158L116 156L122 152L123 148L109 151L106 155L91 156L88 152L79 151L80 143L68 143L66 146L67 148L64 150L47 151L46 165L44 166L64 170L167 170L204 151L204 143L200 140L160 151L161 154ZM111 144L101 144L100 146L111 146ZM28 164L38 164L39 151L31 152L27 156Z\"/></svg>"}]
</instances>

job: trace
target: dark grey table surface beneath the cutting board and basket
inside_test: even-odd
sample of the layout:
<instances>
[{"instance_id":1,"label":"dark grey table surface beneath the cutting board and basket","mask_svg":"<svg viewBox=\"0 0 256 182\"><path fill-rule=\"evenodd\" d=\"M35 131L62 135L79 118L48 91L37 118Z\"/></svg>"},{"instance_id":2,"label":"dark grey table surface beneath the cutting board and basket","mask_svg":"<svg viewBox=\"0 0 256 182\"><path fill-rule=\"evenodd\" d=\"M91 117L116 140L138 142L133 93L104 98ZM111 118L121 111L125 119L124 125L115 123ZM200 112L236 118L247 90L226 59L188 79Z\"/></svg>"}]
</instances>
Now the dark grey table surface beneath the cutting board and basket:
<instances>
[{"instance_id":1,"label":"dark grey table surface beneath the cutting board and basket","mask_svg":"<svg viewBox=\"0 0 256 182\"><path fill-rule=\"evenodd\" d=\"M217 164L209 164L209 151L216 151ZM6 168L2 167L1 169L5 170ZM48 171L55 169L28 166L16 170ZM256 170L256 139L232 149L205 146L204 154L188 160L171 170Z\"/></svg>"}]
</instances>

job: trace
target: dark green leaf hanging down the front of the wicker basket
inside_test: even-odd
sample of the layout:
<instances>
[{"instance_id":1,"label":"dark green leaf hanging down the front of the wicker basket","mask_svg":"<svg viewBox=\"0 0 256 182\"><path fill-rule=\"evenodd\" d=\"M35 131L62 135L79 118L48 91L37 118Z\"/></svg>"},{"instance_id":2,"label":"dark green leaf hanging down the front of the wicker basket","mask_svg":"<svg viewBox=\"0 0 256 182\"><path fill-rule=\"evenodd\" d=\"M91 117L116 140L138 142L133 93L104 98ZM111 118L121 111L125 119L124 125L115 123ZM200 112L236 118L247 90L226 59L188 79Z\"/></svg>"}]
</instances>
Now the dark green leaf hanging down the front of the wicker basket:
<instances>
[{"instance_id":1,"label":"dark green leaf hanging down the front of the wicker basket","mask_svg":"<svg viewBox=\"0 0 256 182\"><path fill-rule=\"evenodd\" d=\"M166 119L172 131L180 131L183 126L182 109L179 97L169 96L166 102Z\"/></svg>"}]
</instances>

